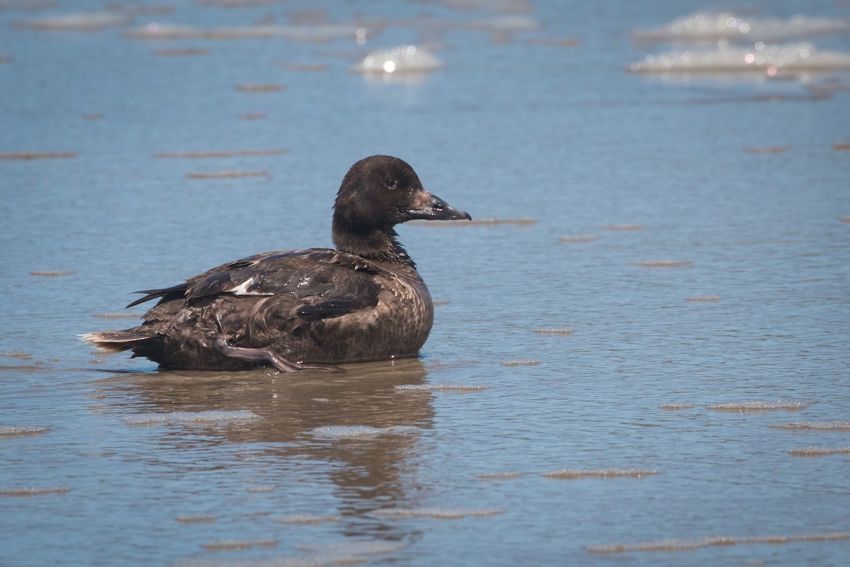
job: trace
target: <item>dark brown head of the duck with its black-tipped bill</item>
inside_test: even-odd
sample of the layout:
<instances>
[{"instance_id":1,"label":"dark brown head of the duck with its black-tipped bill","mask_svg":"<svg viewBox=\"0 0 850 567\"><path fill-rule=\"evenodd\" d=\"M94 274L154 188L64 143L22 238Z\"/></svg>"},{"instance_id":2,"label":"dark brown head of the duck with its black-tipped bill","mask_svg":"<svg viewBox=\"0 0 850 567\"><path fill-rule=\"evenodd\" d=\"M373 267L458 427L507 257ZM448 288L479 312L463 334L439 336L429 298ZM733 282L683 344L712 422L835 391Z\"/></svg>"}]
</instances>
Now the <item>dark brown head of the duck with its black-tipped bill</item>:
<instances>
[{"instance_id":1,"label":"dark brown head of the duck with its black-tipped bill","mask_svg":"<svg viewBox=\"0 0 850 567\"><path fill-rule=\"evenodd\" d=\"M413 167L393 156L355 163L343 178L334 204L334 233L369 234L415 218L472 220L422 187Z\"/></svg>"}]
</instances>

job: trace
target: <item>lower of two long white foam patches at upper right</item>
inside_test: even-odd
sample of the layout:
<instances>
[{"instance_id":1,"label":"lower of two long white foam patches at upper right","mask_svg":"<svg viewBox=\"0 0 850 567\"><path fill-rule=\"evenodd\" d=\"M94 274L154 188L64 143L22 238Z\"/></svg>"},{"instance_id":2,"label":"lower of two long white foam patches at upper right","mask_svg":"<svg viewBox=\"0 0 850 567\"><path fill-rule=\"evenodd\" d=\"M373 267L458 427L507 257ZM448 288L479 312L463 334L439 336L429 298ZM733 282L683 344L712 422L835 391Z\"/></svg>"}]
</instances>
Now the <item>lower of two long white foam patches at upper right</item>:
<instances>
[{"instance_id":1,"label":"lower of two long white foam patches at upper right","mask_svg":"<svg viewBox=\"0 0 850 567\"><path fill-rule=\"evenodd\" d=\"M752 47L722 46L649 54L626 67L633 73L757 72L774 77L780 71L836 71L850 69L850 54L819 51L811 43Z\"/></svg>"}]
</instances>

